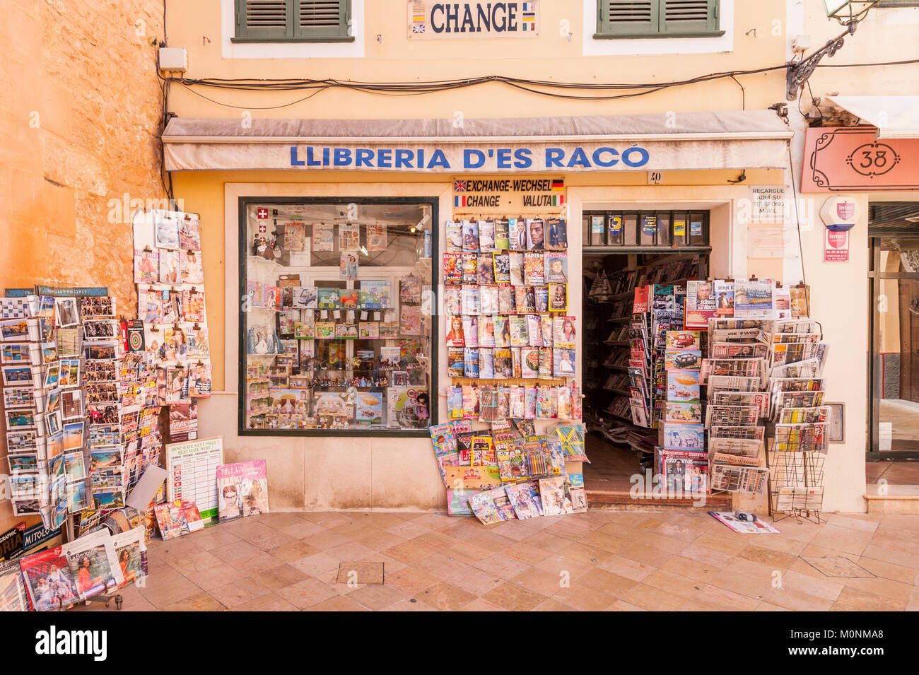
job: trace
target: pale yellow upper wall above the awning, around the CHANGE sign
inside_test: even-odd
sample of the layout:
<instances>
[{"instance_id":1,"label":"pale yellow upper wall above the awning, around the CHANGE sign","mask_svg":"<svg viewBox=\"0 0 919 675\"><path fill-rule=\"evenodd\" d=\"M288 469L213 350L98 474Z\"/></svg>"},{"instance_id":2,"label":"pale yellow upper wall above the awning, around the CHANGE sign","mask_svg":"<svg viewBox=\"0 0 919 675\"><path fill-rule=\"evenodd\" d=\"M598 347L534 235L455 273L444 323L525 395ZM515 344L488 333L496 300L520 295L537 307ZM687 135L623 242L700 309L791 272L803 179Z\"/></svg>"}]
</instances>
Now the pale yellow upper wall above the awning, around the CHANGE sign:
<instances>
[{"instance_id":1,"label":"pale yellow upper wall above the awning, around the CHANGE sign","mask_svg":"<svg viewBox=\"0 0 919 675\"><path fill-rule=\"evenodd\" d=\"M362 40L363 58L225 59L221 52L221 13L218 0L167 0L169 44L188 50L190 78L335 78L363 82L414 82L484 75L508 75L538 80L581 83L658 83L704 73L756 69L786 61L785 38L775 34L774 22L784 25L783 0L722 0L733 7L733 51L679 53L685 39L663 40L678 55L584 56L584 10L596 0L543 0L541 28L531 39L408 38L407 3L403 0L366 0ZM562 21L573 32L562 37ZM779 28L782 28L781 26ZM378 40L380 36L380 40ZM601 40L609 42L610 40ZM614 40L622 42L622 40ZM686 50L684 50L686 51ZM738 78L746 87L746 107L765 108L782 100L785 73L775 71ZM308 101L296 101L311 92L255 93L195 88L203 96L236 108L211 103L176 84L170 108L183 117L256 118L467 118L596 115L653 111L735 110L742 107L739 84L723 79L671 89L647 96L610 101L569 101L502 84L425 96L371 95L343 89L323 91Z\"/></svg>"}]
</instances>

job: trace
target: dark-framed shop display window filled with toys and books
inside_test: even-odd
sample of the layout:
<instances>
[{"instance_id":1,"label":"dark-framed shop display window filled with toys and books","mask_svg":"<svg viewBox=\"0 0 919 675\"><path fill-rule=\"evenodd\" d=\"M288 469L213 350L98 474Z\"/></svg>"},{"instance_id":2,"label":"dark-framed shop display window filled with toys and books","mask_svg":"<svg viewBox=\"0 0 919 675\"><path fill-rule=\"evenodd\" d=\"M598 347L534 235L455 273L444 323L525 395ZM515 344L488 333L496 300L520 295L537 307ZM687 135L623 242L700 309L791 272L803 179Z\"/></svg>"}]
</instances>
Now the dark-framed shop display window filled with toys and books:
<instances>
[{"instance_id":1,"label":"dark-framed shop display window filled with toys and books","mask_svg":"<svg viewBox=\"0 0 919 675\"><path fill-rule=\"evenodd\" d=\"M240 200L240 433L427 433L434 199Z\"/></svg>"}]
</instances>

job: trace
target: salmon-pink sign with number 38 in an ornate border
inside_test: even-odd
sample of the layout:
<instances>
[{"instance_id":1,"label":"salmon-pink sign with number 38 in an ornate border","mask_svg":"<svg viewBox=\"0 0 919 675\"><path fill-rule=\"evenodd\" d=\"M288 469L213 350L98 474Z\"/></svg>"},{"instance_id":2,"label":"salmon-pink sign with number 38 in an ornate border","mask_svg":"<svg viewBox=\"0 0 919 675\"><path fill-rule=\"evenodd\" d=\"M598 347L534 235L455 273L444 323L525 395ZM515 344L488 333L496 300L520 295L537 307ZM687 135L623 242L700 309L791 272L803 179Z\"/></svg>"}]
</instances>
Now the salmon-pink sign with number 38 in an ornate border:
<instances>
[{"instance_id":1,"label":"salmon-pink sign with number 38 in an ornate border","mask_svg":"<svg viewBox=\"0 0 919 675\"><path fill-rule=\"evenodd\" d=\"M801 192L919 190L919 139L877 138L873 127L807 129Z\"/></svg>"}]
</instances>

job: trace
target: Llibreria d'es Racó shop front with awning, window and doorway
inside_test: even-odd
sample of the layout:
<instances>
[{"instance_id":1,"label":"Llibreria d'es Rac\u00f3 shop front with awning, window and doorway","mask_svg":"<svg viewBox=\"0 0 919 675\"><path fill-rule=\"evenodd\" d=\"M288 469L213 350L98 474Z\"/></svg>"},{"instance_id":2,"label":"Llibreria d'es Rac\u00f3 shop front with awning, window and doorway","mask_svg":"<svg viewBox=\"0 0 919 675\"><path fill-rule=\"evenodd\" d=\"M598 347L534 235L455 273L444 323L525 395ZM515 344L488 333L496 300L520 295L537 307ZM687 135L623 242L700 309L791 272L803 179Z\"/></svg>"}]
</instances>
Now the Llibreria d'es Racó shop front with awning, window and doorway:
<instances>
[{"instance_id":1,"label":"Llibreria d'es Rac\u00f3 shop front with awning, window and doorway","mask_svg":"<svg viewBox=\"0 0 919 675\"><path fill-rule=\"evenodd\" d=\"M772 111L671 122L173 118L209 289L199 435L266 459L281 510L459 510L551 472L502 433L561 427L578 504L864 511L864 217L825 264L823 226L781 208ZM507 476L473 470L492 453Z\"/></svg>"}]
</instances>

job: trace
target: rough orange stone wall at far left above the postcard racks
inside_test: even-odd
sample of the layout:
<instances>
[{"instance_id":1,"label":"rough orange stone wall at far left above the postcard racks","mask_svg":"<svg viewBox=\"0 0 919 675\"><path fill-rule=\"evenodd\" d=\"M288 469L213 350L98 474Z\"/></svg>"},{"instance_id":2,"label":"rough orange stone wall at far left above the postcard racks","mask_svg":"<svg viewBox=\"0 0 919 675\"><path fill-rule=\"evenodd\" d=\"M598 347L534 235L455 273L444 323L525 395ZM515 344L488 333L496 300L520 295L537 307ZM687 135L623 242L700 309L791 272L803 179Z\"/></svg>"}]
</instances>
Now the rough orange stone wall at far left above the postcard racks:
<instances>
[{"instance_id":1,"label":"rough orange stone wall at far left above the postcard racks","mask_svg":"<svg viewBox=\"0 0 919 675\"><path fill-rule=\"evenodd\" d=\"M163 0L5 4L0 287L108 286L136 313L130 200L165 196L159 39ZM18 520L6 497L0 532Z\"/></svg>"}]
</instances>

